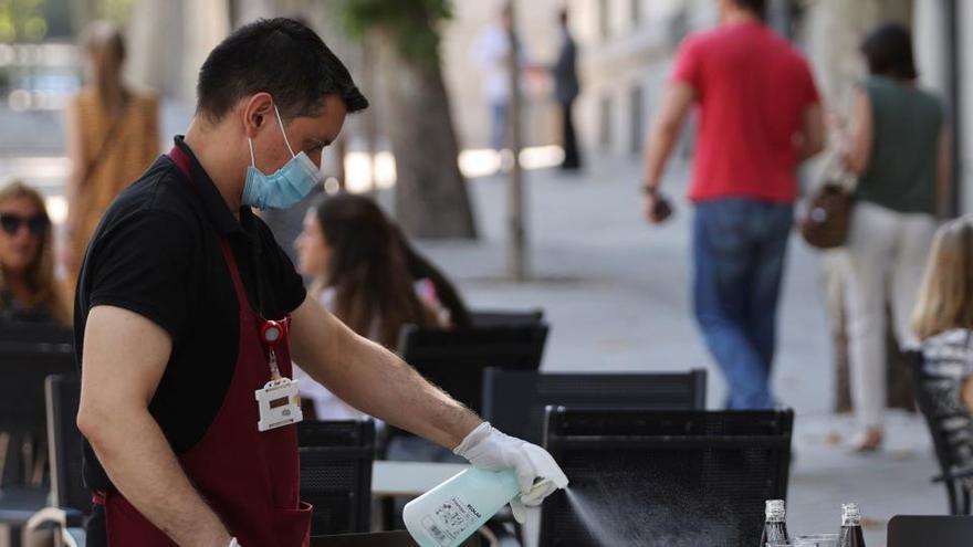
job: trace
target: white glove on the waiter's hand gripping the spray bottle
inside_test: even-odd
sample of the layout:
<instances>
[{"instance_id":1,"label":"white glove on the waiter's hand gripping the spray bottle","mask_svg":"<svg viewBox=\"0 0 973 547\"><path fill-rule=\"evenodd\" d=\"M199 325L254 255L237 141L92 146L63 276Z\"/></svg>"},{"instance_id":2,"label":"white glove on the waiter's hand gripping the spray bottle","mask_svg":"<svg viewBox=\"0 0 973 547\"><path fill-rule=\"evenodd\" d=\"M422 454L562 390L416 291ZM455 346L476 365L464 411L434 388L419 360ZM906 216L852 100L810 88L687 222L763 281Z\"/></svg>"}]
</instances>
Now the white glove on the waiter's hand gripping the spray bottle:
<instances>
[{"instance_id":1,"label":"white glove on the waiter's hand gripping the spray bottle","mask_svg":"<svg viewBox=\"0 0 973 547\"><path fill-rule=\"evenodd\" d=\"M546 450L506 435L488 422L471 431L453 453L469 460L474 467L516 472L521 495L510 503L510 508L521 524L526 519L524 505L541 505L554 491L567 486L567 476ZM544 481L535 485L537 478Z\"/></svg>"}]
</instances>

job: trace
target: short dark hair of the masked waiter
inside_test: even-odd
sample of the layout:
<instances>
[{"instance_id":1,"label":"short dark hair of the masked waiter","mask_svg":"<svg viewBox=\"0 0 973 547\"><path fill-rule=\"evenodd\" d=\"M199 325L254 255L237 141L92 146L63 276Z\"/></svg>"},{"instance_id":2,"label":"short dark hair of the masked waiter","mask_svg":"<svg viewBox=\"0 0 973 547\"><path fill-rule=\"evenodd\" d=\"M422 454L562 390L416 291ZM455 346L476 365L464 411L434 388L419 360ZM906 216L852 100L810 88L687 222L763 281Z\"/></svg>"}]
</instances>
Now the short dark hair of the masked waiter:
<instances>
[{"instance_id":1,"label":"short dark hair of the masked waiter","mask_svg":"<svg viewBox=\"0 0 973 547\"><path fill-rule=\"evenodd\" d=\"M197 112L221 119L241 98L270 93L281 116L314 115L339 96L348 113L368 107L348 69L313 30L293 19L260 19L230 34L199 71Z\"/></svg>"}]
</instances>

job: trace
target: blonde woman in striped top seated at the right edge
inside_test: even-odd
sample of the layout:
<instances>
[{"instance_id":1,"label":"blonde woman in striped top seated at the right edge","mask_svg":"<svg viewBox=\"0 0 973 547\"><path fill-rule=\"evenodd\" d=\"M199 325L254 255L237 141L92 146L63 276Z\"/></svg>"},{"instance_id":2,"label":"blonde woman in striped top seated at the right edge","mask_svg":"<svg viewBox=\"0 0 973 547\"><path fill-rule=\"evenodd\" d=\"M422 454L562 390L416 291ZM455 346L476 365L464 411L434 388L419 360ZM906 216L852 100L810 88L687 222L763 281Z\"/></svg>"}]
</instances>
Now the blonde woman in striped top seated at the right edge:
<instances>
[{"instance_id":1,"label":"blonde woman in striped top seated at the right edge","mask_svg":"<svg viewBox=\"0 0 973 547\"><path fill-rule=\"evenodd\" d=\"M973 465L973 218L956 219L935 235L912 318L922 340L924 388L943 413L955 463Z\"/></svg>"}]
</instances>

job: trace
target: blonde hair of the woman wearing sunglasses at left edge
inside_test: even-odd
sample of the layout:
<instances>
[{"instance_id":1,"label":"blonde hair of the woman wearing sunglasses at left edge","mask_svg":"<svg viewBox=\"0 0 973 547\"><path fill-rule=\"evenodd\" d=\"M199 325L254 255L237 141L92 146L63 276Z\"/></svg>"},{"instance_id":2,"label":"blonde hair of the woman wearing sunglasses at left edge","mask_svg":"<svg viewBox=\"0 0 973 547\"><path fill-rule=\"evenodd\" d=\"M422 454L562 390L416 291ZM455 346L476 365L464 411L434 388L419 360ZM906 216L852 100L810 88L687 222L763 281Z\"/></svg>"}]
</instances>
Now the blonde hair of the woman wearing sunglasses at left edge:
<instances>
[{"instance_id":1,"label":"blonde hair of the woman wearing sunglasses at left edge","mask_svg":"<svg viewBox=\"0 0 973 547\"><path fill-rule=\"evenodd\" d=\"M44 198L36 190L19 180L0 187L0 203L15 198L27 199L33 203L50 225L51 219L48 217ZM27 281L28 286L34 293L31 305L48 311L59 324L71 325L67 302L54 278L54 235L50 228L41 239L38 255L27 267ZM7 291L7 281L3 276L3 269L0 269L0 292L4 291Z\"/></svg>"}]
</instances>

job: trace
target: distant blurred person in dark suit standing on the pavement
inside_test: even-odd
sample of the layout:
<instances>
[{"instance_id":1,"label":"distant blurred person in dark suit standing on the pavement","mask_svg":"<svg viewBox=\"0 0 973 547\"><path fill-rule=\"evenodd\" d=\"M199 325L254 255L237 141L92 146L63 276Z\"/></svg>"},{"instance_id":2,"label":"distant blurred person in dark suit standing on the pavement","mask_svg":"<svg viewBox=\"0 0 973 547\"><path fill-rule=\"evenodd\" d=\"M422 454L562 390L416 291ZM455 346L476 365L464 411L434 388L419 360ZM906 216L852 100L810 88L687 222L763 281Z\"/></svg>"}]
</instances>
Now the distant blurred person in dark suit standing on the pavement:
<instances>
[{"instance_id":1,"label":"distant blurred person in dark suit standing on the pavement","mask_svg":"<svg viewBox=\"0 0 973 547\"><path fill-rule=\"evenodd\" d=\"M561 50L552 74L554 75L554 96L561 106L561 143L564 146L564 161L561 162L561 168L576 170L582 167L574 127L574 102L580 94L580 83L577 75L577 44L571 35L566 9L561 11L558 19L561 21Z\"/></svg>"}]
</instances>

